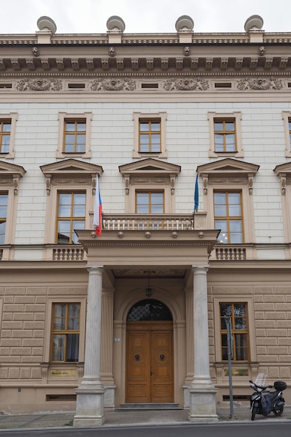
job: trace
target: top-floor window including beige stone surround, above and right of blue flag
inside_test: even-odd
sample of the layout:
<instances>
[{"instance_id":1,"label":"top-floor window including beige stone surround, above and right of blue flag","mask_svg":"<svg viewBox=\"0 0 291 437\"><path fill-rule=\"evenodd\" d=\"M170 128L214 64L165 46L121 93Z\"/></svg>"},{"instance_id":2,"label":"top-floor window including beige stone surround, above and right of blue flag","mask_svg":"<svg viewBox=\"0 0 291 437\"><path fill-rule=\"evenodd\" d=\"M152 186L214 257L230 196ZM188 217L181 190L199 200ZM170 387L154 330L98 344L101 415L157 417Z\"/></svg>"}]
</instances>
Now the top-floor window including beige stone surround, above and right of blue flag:
<instances>
[{"instance_id":1,"label":"top-floor window including beige stone surround, above and right of blue flag","mask_svg":"<svg viewBox=\"0 0 291 437\"><path fill-rule=\"evenodd\" d=\"M209 156L244 156L241 145L241 112L209 112Z\"/></svg>"}]
</instances>

